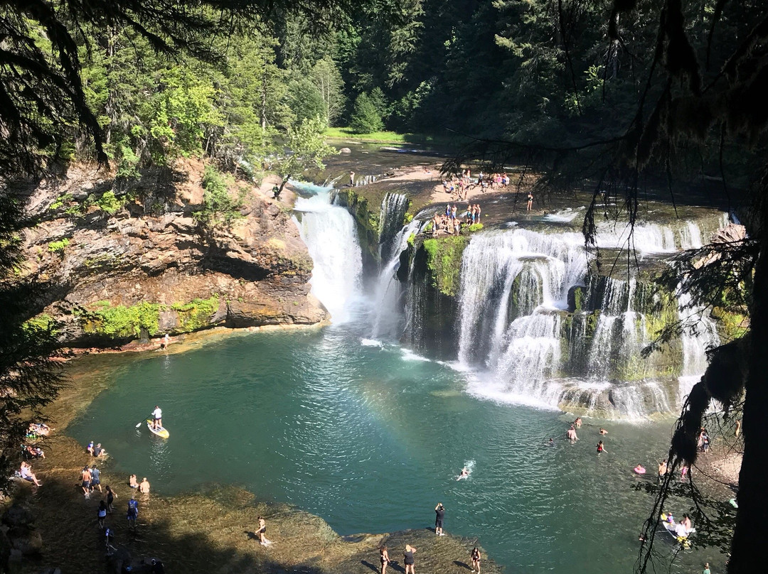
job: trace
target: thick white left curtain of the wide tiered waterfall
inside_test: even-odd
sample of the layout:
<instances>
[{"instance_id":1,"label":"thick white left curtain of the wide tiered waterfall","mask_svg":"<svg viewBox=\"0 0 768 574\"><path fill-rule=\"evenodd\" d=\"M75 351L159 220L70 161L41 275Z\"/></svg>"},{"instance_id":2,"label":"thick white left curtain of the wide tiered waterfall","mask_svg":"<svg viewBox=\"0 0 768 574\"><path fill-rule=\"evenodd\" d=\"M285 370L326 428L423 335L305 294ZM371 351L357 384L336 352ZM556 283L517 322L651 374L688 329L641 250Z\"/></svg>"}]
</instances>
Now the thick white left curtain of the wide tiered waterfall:
<instances>
[{"instance_id":1,"label":"thick white left curtain of the wide tiered waterfall","mask_svg":"<svg viewBox=\"0 0 768 574\"><path fill-rule=\"evenodd\" d=\"M540 395L560 358L558 309L586 269L578 233L515 229L475 236L462 256L458 360L485 363L496 377L513 381L518 394Z\"/></svg>"}]
</instances>

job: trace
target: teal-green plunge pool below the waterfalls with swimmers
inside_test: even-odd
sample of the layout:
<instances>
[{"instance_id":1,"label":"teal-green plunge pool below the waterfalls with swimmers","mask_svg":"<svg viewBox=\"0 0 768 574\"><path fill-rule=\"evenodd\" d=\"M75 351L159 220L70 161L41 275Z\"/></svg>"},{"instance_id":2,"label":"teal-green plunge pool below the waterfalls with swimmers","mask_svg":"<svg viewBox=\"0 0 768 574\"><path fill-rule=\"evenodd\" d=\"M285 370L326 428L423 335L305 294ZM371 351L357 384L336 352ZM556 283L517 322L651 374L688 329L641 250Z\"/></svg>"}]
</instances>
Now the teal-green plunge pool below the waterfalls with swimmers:
<instances>
[{"instance_id":1,"label":"teal-green plunge pool below the waterfalls with swimmers","mask_svg":"<svg viewBox=\"0 0 768 574\"><path fill-rule=\"evenodd\" d=\"M446 531L478 536L510 572L631 572L651 503L631 468L653 474L670 432L669 421L585 421L571 445L573 415L481 401L464 392L468 375L362 345L345 326L114 365L68 432L103 443L126 479L147 476L165 494L235 483L341 534L431 526L440 501ZM169 440L134 428L155 404ZM610 434L598 457L600 424ZM456 481L469 461L471 477ZM684 553L673 571L709 558Z\"/></svg>"}]
</instances>

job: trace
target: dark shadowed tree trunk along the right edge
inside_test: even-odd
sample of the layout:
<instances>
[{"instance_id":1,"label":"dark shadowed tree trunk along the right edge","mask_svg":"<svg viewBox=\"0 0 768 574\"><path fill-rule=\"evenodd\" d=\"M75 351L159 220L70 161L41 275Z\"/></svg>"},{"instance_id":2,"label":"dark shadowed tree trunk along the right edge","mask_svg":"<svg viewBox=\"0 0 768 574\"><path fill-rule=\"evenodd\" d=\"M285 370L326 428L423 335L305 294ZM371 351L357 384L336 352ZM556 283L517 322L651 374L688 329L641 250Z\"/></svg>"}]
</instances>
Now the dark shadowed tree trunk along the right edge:
<instances>
[{"instance_id":1,"label":"dark shadowed tree trunk along the right edge","mask_svg":"<svg viewBox=\"0 0 768 574\"><path fill-rule=\"evenodd\" d=\"M764 545L768 540L768 200L760 205L760 259L755 267L753 308L750 315L750 358L742 434L744 458L739 473L736 527L733 531L729 574L766 572Z\"/></svg>"}]
</instances>

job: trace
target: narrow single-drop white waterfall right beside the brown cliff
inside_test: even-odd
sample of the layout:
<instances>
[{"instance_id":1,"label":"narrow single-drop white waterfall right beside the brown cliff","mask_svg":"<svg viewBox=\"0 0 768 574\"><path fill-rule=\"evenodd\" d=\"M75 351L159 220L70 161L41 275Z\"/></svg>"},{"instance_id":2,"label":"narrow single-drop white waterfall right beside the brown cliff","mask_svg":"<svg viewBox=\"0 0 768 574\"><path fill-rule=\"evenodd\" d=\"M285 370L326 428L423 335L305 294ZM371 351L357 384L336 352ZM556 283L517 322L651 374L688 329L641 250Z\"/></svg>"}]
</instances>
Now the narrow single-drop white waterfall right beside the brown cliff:
<instances>
[{"instance_id":1,"label":"narrow single-drop white waterfall right beside the brown cliff","mask_svg":"<svg viewBox=\"0 0 768 574\"><path fill-rule=\"evenodd\" d=\"M312 293L323 302L334 323L349 320L349 300L359 290L362 254L353 216L331 203L330 190L300 197L293 216L314 262Z\"/></svg>"}]
</instances>

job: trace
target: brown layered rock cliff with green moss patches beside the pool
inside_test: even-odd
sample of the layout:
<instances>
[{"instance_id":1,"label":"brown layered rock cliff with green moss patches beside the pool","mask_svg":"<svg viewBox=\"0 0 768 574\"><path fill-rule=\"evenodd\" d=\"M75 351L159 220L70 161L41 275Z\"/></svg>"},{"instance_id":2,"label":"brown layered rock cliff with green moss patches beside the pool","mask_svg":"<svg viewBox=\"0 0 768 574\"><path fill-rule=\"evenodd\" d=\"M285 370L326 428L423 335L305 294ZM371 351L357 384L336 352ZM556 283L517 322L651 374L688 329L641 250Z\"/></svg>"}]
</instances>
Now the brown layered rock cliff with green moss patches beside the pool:
<instances>
[{"instance_id":1,"label":"brown layered rock cliff with green moss patches beside the pool","mask_svg":"<svg viewBox=\"0 0 768 574\"><path fill-rule=\"evenodd\" d=\"M93 169L20 191L38 224L25 231L20 279L39 283L37 321L65 345L114 345L215 325L314 324L312 260L290 193L230 182L229 224L204 222L202 163L144 173L131 185Z\"/></svg>"}]
</instances>

